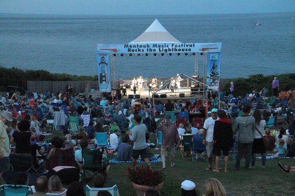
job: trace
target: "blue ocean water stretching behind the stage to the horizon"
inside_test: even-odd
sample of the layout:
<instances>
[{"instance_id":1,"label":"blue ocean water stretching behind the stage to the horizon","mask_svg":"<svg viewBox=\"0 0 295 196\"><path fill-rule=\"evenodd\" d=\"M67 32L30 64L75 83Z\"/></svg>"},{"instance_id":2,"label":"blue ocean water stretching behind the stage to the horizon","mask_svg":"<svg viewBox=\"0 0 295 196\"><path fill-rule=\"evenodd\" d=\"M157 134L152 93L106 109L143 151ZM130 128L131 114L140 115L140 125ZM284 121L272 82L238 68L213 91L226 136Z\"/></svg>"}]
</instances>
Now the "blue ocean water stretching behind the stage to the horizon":
<instances>
[{"instance_id":1,"label":"blue ocean water stretching behind the stage to the horizon","mask_svg":"<svg viewBox=\"0 0 295 196\"><path fill-rule=\"evenodd\" d=\"M182 16L0 15L0 66L95 75L96 44L129 43L155 20L181 42L222 42L221 78L295 73L295 13ZM255 26L259 22L261 26ZM203 75L203 56L199 55ZM116 77L195 73L195 57L117 56Z\"/></svg>"}]
</instances>

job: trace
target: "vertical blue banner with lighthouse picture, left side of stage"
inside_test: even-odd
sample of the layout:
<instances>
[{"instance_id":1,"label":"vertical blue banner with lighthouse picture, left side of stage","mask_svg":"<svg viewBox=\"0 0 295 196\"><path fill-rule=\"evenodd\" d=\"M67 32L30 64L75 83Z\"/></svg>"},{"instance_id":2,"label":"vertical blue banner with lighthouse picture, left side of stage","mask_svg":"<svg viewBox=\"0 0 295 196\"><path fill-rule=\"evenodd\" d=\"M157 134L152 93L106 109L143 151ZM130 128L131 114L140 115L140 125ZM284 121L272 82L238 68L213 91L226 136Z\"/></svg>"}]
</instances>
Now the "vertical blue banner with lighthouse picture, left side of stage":
<instances>
[{"instance_id":1,"label":"vertical blue banner with lighthouse picture, left side of stage","mask_svg":"<svg viewBox=\"0 0 295 196\"><path fill-rule=\"evenodd\" d=\"M100 93L111 93L110 55L97 54L98 84Z\"/></svg>"}]
</instances>

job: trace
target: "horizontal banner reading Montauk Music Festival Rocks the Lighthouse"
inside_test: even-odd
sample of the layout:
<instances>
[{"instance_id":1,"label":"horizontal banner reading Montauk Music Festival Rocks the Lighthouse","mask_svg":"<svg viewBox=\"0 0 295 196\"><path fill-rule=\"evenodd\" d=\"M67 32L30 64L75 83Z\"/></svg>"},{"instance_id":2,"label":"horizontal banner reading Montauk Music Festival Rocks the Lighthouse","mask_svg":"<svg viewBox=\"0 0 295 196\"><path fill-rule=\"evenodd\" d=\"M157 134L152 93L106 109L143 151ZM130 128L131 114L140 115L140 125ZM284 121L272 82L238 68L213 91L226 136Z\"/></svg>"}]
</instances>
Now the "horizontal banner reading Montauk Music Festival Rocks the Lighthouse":
<instances>
[{"instance_id":1,"label":"horizontal banner reading Montauk Music Festival Rocks the Lighthouse","mask_svg":"<svg viewBox=\"0 0 295 196\"><path fill-rule=\"evenodd\" d=\"M220 52L221 42L217 43L141 43L141 44L97 44L97 53L189 53Z\"/></svg>"}]
</instances>

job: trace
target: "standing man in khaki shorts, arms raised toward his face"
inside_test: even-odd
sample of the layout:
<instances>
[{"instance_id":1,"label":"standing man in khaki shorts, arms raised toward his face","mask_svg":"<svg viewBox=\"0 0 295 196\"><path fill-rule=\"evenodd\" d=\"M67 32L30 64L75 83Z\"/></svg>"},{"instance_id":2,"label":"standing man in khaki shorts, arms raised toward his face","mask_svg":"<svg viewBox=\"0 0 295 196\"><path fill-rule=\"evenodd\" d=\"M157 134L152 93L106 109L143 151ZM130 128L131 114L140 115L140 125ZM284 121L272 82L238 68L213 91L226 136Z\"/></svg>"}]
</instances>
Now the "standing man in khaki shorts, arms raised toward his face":
<instances>
[{"instance_id":1,"label":"standing man in khaki shorts, arms raised toward his face","mask_svg":"<svg viewBox=\"0 0 295 196\"><path fill-rule=\"evenodd\" d=\"M162 158L162 169L166 167L166 156L170 154L171 167L175 166L174 155L175 155L175 144L179 147L180 138L175 123L171 122L171 116L165 115L165 119L158 125L157 130L162 131L162 145L161 145L161 158Z\"/></svg>"}]
</instances>

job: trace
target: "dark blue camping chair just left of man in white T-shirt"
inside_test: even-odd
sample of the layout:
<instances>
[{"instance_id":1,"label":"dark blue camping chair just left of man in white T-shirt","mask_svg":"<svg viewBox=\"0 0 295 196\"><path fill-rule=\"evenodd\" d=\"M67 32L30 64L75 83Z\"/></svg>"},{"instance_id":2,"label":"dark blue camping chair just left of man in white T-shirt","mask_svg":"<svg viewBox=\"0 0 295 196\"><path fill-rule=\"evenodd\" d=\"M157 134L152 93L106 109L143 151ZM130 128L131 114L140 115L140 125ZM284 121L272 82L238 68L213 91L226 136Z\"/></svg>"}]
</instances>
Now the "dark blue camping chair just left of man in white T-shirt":
<instances>
[{"instance_id":1,"label":"dark blue camping chair just left of man in white T-shirt","mask_svg":"<svg viewBox=\"0 0 295 196\"><path fill-rule=\"evenodd\" d=\"M196 161L199 158L207 160L206 146L202 143L203 137L193 135L193 138L194 142L192 143L191 147L192 160Z\"/></svg>"}]
</instances>

